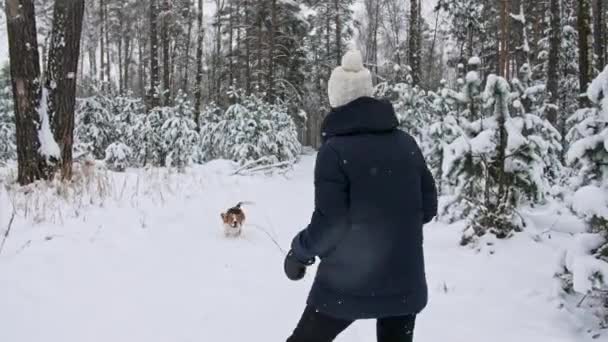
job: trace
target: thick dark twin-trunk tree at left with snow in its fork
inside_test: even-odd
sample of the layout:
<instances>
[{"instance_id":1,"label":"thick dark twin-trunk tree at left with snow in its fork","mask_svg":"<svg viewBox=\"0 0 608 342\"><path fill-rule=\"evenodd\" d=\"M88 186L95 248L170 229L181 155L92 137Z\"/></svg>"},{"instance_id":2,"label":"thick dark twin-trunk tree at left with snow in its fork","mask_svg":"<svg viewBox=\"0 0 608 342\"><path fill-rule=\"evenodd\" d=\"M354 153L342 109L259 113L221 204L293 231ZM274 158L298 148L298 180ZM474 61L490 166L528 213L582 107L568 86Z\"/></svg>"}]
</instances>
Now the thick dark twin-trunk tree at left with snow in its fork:
<instances>
[{"instance_id":1,"label":"thick dark twin-trunk tree at left with snow in its fork","mask_svg":"<svg viewBox=\"0 0 608 342\"><path fill-rule=\"evenodd\" d=\"M34 3L7 0L6 5L18 182L25 185L51 179L58 167L63 178L69 179L84 0L55 1L44 91L40 81Z\"/></svg>"}]
</instances>

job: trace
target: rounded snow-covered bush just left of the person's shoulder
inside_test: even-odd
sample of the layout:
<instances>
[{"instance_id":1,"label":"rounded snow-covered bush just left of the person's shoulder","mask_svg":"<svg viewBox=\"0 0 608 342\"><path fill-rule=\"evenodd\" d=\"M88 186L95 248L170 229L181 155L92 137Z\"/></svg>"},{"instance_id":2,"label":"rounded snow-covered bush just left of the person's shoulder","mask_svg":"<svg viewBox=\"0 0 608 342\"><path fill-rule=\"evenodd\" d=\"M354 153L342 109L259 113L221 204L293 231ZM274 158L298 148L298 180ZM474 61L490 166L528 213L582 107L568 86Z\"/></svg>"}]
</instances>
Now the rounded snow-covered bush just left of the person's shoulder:
<instances>
[{"instance_id":1,"label":"rounded snow-covered bush just left of the person's shoulder","mask_svg":"<svg viewBox=\"0 0 608 342\"><path fill-rule=\"evenodd\" d=\"M241 165L272 165L298 159L302 146L283 104L233 93L235 103L221 117L207 111L201 127L203 160L222 158ZM219 120L218 120L219 119Z\"/></svg>"}]
</instances>

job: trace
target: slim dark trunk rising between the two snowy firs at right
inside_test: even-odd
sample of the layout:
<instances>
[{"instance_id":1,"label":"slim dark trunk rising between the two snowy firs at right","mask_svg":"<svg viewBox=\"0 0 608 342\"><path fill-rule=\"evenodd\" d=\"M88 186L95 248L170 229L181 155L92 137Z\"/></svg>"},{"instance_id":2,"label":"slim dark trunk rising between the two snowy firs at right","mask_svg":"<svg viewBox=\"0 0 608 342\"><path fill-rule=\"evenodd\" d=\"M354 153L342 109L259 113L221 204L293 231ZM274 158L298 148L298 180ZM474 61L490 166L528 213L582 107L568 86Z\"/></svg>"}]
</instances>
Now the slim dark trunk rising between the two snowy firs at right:
<instances>
[{"instance_id":1,"label":"slim dark trunk rising between the two snowy firs at right","mask_svg":"<svg viewBox=\"0 0 608 342\"><path fill-rule=\"evenodd\" d=\"M551 0L551 35L549 37L549 60L547 62L547 92L550 105L547 106L546 117L553 126L557 127L559 104L559 53L562 45L562 28L560 20L560 0Z\"/></svg>"}]
</instances>

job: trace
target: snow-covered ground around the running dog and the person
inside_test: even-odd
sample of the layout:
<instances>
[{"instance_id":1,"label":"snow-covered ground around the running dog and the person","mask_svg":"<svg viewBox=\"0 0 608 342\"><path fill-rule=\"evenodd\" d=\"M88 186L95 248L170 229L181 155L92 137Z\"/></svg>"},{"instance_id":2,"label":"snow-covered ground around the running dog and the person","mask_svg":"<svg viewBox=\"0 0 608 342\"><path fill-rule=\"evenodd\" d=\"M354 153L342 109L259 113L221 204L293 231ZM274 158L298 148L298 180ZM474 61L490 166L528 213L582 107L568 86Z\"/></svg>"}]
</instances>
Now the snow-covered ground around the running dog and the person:
<instances>
[{"instance_id":1,"label":"snow-covered ground around the running dog and the person","mask_svg":"<svg viewBox=\"0 0 608 342\"><path fill-rule=\"evenodd\" d=\"M306 156L273 177L231 176L227 162L185 175L113 174L101 206L95 198L77 206L13 200L29 211L0 254L0 340L284 341L313 272L286 280L269 235L286 247L307 224L313 163ZM238 201L255 205L244 236L226 239L219 215ZM10 203L0 191L0 232ZM567 233L546 231L576 223L542 210L526 215L529 231L481 250L458 245L459 225L426 227L430 303L418 342L591 340L557 297ZM373 322L360 322L338 341L374 336Z\"/></svg>"}]
</instances>

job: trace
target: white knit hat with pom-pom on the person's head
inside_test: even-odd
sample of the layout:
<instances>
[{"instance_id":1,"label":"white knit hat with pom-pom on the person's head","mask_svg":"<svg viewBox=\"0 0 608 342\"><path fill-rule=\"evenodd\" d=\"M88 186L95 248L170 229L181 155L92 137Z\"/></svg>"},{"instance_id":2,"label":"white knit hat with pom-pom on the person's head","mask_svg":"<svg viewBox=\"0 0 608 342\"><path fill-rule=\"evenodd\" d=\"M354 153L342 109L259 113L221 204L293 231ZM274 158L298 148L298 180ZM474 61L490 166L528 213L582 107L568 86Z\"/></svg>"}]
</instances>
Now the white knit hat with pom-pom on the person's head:
<instances>
[{"instance_id":1,"label":"white knit hat with pom-pom on the person's head","mask_svg":"<svg viewBox=\"0 0 608 342\"><path fill-rule=\"evenodd\" d=\"M342 58L342 66L331 73L327 85L329 104L342 107L360 97L371 97L374 93L371 72L363 66L359 50L351 50Z\"/></svg>"}]
</instances>

